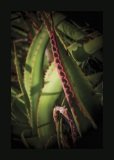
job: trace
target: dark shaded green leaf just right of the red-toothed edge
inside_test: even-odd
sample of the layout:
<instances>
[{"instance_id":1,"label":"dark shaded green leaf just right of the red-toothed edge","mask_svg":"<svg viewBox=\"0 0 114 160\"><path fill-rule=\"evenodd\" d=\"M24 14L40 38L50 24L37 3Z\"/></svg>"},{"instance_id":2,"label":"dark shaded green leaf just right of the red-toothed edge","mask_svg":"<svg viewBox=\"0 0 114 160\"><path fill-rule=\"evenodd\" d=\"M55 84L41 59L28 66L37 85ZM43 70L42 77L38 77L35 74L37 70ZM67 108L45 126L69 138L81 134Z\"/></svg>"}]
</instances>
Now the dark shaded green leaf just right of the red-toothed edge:
<instances>
[{"instance_id":1,"label":"dark shaded green leaf just right of the red-toothed edge","mask_svg":"<svg viewBox=\"0 0 114 160\"><path fill-rule=\"evenodd\" d=\"M84 114L84 116L87 119L90 120L93 127L96 128L96 125L94 123L92 116L94 115L94 110L98 109L99 101L95 96L92 86L90 85L90 83L88 82L84 74L82 73L79 66L76 63L74 63L74 61L70 56L68 56L66 50L62 46L58 37L57 37L57 42L58 42L60 57L64 65L65 71L69 77L70 83L72 84L75 95L77 96L81 104L82 108L80 107L80 111Z\"/></svg>"}]
</instances>

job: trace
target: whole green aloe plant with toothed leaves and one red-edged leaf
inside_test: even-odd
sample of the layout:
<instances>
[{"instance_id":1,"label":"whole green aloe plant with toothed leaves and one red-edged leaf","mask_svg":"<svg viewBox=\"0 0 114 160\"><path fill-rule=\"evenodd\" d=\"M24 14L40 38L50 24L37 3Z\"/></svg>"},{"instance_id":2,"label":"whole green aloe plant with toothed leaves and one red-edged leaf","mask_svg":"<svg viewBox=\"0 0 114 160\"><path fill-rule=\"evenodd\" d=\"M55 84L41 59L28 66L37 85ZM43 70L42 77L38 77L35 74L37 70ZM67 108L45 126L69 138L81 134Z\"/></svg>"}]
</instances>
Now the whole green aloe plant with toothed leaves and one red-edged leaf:
<instances>
[{"instance_id":1,"label":"whole green aloe plant with toothed leaves and one red-edged leaf","mask_svg":"<svg viewBox=\"0 0 114 160\"><path fill-rule=\"evenodd\" d=\"M30 18L30 14L27 15ZM46 12L40 12L40 15L39 21L32 14L32 21L39 24L40 29L34 23L25 23L34 38L31 39L30 46L29 42L26 44L27 55L22 66L18 51L24 46L20 45L16 49L17 43L14 42L12 54L20 88L11 88L12 132L27 148L50 148L57 143L58 148L72 148L73 143L69 143L69 137L74 142L74 139L83 137L91 127L95 130L99 127L95 114L103 105L102 89L98 87L102 83L103 73L90 73L86 76L82 65L88 58L99 56L98 53L103 48L102 34L93 32L88 35L78 25L67 22L66 16L60 13L53 13L52 17ZM17 19L17 24L19 21L21 20ZM17 32L27 38L26 34ZM69 34L70 32L75 34ZM46 56L47 48L49 50ZM49 55L52 57L51 62ZM60 117L55 121L53 112L56 106L62 110L64 105L67 108L67 113L64 112L66 116L63 112L54 114ZM63 132L66 128L69 128L69 135L65 138ZM73 133L74 130L76 134Z\"/></svg>"}]
</instances>

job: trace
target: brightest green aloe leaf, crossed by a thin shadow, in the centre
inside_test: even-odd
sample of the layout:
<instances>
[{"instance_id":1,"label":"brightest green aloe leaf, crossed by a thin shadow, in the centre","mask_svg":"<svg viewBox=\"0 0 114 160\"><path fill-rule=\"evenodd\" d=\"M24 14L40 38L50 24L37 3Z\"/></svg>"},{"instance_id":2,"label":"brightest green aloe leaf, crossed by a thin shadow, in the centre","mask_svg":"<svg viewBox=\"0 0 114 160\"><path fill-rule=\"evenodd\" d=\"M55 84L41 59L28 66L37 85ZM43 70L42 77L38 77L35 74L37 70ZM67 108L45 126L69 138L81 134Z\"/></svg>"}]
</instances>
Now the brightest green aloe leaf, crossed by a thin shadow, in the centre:
<instances>
[{"instance_id":1,"label":"brightest green aloe leaf, crossed by a thin shadow, in the centre","mask_svg":"<svg viewBox=\"0 0 114 160\"><path fill-rule=\"evenodd\" d=\"M45 145L49 139L53 138L55 134L53 108L61 91L61 82L54 63L52 63L45 76L45 85L42 89L37 111L38 124L49 123L44 127L38 128L38 135L43 145Z\"/></svg>"}]
</instances>

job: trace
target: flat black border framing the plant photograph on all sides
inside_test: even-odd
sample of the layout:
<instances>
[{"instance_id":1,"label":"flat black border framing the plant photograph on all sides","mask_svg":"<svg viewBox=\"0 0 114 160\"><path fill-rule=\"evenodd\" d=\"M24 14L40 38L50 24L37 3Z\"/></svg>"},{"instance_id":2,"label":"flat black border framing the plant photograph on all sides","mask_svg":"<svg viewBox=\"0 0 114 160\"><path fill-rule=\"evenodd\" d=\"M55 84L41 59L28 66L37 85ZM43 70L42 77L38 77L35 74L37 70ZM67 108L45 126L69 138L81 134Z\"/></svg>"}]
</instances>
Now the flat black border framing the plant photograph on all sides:
<instances>
[{"instance_id":1,"label":"flat black border framing the plant photograph on all sides","mask_svg":"<svg viewBox=\"0 0 114 160\"><path fill-rule=\"evenodd\" d=\"M70 1L70 2L69 2ZM104 159L106 157L112 158L113 147L111 142L113 141L113 8L107 6L101 1L81 1L72 2L71 0L64 1L37 1L30 3L31 1L8 1L1 4L2 12L1 18L1 44L2 56L1 60L1 157L4 159L37 159L37 158L49 158L49 159L63 159L63 158L87 158L87 159ZM25 3L24 3L25 2ZM85 2L85 3L84 3ZM41 3L41 4L39 4ZM103 11L103 33L104 33L104 122L103 122L103 149L71 149L71 150L25 150L25 149L11 149L10 144L10 12L12 10L76 10L76 11ZM113 143L112 143L113 144ZM4 150L4 151L3 151Z\"/></svg>"}]
</instances>

